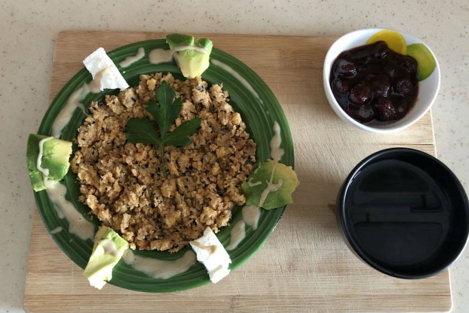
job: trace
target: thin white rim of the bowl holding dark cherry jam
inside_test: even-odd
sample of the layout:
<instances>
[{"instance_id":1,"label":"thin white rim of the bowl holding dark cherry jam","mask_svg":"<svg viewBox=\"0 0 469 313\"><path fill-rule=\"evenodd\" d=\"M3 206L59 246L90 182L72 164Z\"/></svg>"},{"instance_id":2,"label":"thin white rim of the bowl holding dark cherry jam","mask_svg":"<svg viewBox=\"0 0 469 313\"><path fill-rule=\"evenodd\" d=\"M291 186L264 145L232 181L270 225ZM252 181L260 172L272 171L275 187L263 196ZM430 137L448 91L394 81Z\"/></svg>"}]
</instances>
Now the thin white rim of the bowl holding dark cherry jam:
<instances>
[{"instance_id":1,"label":"thin white rim of the bowl holding dark cherry jam","mask_svg":"<svg viewBox=\"0 0 469 313\"><path fill-rule=\"evenodd\" d=\"M398 127L389 127L389 128L376 128L376 127L373 127L373 126L368 126L368 125L364 125L358 121L356 121L355 119L353 119L350 115L348 115L343 109L342 107L339 105L339 103L337 102L337 100L335 99L333 93L332 93L332 89L331 89L331 86L329 84L329 76L330 76L330 71L331 71L331 67L328 67L327 70L326 70L326 61L331 57L332 55L332 47L337 44L337 42L339 42L341 39L345 38L345 37L348 37L348 36L353 36L353 35L356 35L357 33L360 33L360 32L364 32L364 31L373 31L373 30L376 30L376 32L378 31L381 31L381 30L394 30L394 31L397 31L399 32L400 34L402 34L403 36L407 36L407 37L410 37L412 38L413 40L419 42L419 43L422 43L424 44L429 50L430 52L432 53L433 57L435 58L435 62L437 64L437 66L435 67L435 72L437 74L437 86L435 88L435 92L432 96L432 99L430 101L430 103L427 105L427 108L419 115L417 115L414 119L412 119L411 121L409 121L408 123L404 124L404 125L401 125L401 126L398 126ZM357 45L358 46L358 45ZM335 57L337 57L337 55L335 55ZM335 59L334 57L334 59ZM331 62L331 66L332 66L332 62ZM441 85L441 71L440 71L440 64L438 62L438 59L435 55L435 53L433 52L433 50L421 39L415 37L415 36L412 36L412 35L409 35L408 33L405 33L405 32L402 32L400 30L396 30L396 29L392 29L392 28L362 28L362 29L357 29L357 30L354 30L354 31L351 31L351 32L348 32L342 36L340 36L337 40L334 41L334 43L332 43L332 45L329 47L329 50L327 50L327 53L326 53L326 56L324 58L324 64L323 64L323 83L324 83L324 91L326 93L326 96L329 95L327 97L327 100L329 102L329 104L331 105L331 107L334 109L334 111L336 112L337 115L339 115L342 119L344 119L345 121L351 123L352 125L360 128L360 129L363 129L363 130L367 130L367 131L371 131L371 132L374 132L374 133L381 133L381 134L385 134L385 133L393 133L393 132L397 132L399 130L402 130L402 129L405 129L411 125L413 125L414 123L416 123L418 120L420 120L422 118L422 116L424 116L428 110L430 110L430 108L432 107L433 103L435 102L437 96L438 96L438 92L440 91L440 85ZM332 100L332 103L331 103L331 100ZM340 111L339 111L340 110ZM340 113L339 113L340 112Z\"/></svg>"}]
</instances>

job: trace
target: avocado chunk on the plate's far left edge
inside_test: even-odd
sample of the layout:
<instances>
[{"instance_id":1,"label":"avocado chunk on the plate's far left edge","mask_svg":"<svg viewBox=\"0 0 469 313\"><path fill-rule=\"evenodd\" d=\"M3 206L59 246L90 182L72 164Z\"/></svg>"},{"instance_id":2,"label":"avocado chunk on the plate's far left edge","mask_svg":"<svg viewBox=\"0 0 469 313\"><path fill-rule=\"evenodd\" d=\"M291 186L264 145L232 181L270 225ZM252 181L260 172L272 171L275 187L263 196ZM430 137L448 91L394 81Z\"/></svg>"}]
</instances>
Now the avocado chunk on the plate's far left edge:
<instances>
[{"instance_id":1,"label":"avocado chunk on the plate's far left edge","mask_svg":"<svg viewBox=\"0 0 469 313\"><path fill-rule=\"evenodd\" d=\"M26 147L26 163L29 179L34 191L47 189L44 184L43 173L37 169L37 157L39 156L39 142L48 136L29 134ZM68 159L72 153L72 143L50 137L42 144L42 157L40 167L48 172L47 179L53 184L61 180L67 174L70 163Z\"/></svg>"}]
</instances>

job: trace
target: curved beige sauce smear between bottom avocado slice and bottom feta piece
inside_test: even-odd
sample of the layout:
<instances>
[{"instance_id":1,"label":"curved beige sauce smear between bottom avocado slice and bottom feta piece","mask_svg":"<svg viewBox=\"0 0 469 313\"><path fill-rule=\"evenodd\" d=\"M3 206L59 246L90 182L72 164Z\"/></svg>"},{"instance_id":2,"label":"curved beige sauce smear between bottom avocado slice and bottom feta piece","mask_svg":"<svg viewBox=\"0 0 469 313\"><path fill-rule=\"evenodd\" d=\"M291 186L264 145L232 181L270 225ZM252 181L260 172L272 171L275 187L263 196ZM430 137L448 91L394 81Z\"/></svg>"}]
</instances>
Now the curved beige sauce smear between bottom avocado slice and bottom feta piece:
<instances>
[{"instance_id":1,"label":"curved beige sauce smear between bottom avocado slice and bottom feta piece","mask_svg":"<svg viewBox=\"0 0 469 313\"><path fill-rule=\"evenodd\" d=\"M126 250L122 259L135 270L145 273L150 277L168 279L189 270L196 263L196 254L194 251L189 250L183 257L170 261L143 258L134 255L131 250Z\"/></svg>"}]
</instances>

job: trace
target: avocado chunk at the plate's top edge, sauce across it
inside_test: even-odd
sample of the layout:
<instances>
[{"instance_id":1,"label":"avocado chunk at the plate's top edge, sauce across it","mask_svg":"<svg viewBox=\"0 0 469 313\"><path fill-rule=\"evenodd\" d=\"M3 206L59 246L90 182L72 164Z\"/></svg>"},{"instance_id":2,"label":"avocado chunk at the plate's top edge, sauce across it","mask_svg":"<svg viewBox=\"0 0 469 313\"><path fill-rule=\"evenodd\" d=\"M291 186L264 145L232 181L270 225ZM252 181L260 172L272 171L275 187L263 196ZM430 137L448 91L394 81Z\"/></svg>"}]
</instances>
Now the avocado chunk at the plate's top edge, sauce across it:
<instances>
[{"instance_id":1,"label":"avocado chunk at the plate's top edge, sauce across it","mask_svg":"<svg viewBox=\"0 0 469 313\"><path fill-rule=\"evenodd\" d=\"M166 42L170 49L178 46L194 46L203 48L207 53L194 49L185 49L174 54L174 59L178 63L181 72L186 78L201 76L209 68L210 53L212 53L213 43L208 38L200 38L194 41L194 36L185 34L169 34L166 36Z\"/></svg>"}]
</instances>

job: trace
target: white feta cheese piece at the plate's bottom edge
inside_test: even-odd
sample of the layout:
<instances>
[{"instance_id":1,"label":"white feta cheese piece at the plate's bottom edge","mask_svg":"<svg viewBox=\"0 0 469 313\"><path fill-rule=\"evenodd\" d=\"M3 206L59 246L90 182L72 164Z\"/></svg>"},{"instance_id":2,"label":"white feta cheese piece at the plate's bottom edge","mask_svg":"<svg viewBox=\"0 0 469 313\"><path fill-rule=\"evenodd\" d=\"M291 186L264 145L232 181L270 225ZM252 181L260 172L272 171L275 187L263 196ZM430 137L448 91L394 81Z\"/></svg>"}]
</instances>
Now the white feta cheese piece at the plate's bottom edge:
<instances>
[{"instance_id":1,"label":"white feta cheese piece at the plate's bottom edge","mask_svg":"<svg viewBox=\"0 0 469 313\"><path fill-rule=\"evenodd\" d=\"M230 256L210 227L207 227L204 236L191 241L190 244L197 254L197 261L204 264L209 272L212 283L216 284L230 274Z\"/></svg>"}]
</instances>

